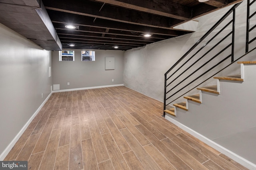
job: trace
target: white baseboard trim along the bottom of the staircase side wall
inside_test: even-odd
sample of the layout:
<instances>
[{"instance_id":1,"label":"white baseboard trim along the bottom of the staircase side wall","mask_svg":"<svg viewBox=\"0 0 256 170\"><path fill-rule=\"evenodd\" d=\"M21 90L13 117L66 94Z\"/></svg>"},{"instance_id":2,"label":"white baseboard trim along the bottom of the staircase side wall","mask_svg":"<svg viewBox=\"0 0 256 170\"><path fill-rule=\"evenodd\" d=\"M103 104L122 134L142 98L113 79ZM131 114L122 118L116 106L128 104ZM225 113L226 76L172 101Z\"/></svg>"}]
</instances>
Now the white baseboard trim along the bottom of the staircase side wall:
<instances>
[{"instance_id":1,"label":"white baseboard trim along the bottom of the staircase side wall","mask_svg":"<svg viewBox=\"0 0 256 170\"><path fill-rule=\"evenodd\" d=\"M190 129L189 127L183 125L182 123L176 121L175 119L173 119L172 117L168 116L168 114L165 115L165 119L172 122L174 125L180 127L181 129L183 129L184 131L190 133L191 135L193 135L194 137L198 138L200 141L203 141L204 143L206 143L207 145L209 145L210 147L218 150L219 152L221 152L222 154L230 157L231 159L233 159L234 161L238 162L239 164L245 166L246 168L250 169L250 170L256 170L256 164L246 160L245 158L242 158L241 156L239 156L238 154L235 154L234 152L222 147L221 145L219 145L218 143L215 143L214 141L208 139L207 137L201 135L200 133L194 131L193 129Z\"/></svg>"}]
</instances>

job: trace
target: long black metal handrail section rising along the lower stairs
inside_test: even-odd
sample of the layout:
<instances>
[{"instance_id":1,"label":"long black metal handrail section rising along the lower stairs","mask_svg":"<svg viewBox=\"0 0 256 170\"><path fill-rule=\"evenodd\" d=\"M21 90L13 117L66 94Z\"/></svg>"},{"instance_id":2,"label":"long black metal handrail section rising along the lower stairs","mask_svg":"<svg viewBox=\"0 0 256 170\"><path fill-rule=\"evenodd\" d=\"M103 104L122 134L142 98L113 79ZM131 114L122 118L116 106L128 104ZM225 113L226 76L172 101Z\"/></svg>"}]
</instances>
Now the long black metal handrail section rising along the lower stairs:
<instances>
[{"instance_id":1,"label":"long black metal handrail section rising along the lower stairs","mask_svg":"<svg viewBox=\"0 0 256 170\"><path fill-rule=\"evenodd\" d=\"M192 82L194 82L195 80L197 80L198 78L200 78L201 76L203 76L204 74L206 74L207 72L209 72L210 70L212 70L213 68L215 68L216 66L218 66L219 64L221 64L222 62L224 62L226 59L228 59L229 57L231 57L231 63L234 62L234 29L235 29L235 9L241 4L242 2L235 4L232 8L230 8L230 10L228 10L228 12L222 17L220 18L220 20L218 20L217 23L215 23L211 29L209 31L207 31L165 74L164 74L164 110L166 109L166 106L168 106L169 104L171 104L172 102L169 102L168 104L166 104L166 101L168 99L170 99L172 96L174 96L175 94L177 94L178 92L180 92L181 90L183 90L184 88L186 88L188 85L190 85ZM231 13L233 12L233 17L232 20L228 22L228 24L226 24L218 33L216 33L216 35L214 35L205 45L203 45L198 51L196 51L196 53L194 53L194 55L192 55L192 57L190 57L187 61L185 61L182 66L180 66L179 68L177 68L172 74L171 76L167 77L167 74L170 73L174 68L176 68L176 66L178 66L178 64L183 61L186 56L188 56L210 33L212 33L212 31L214 29L216 29L216 27L218 25L220 25L220 23L222 23L222 21L224 21ZM190 61L195 55L197 55L206 45L208 45L208 43L210 43L214 38L217 37L217 35L219 35L226 27L228 27L228 25L230 25L232 23L232 31L230 33L228 33L228 35L226 35L223 39L221 39L216 45L214 45L209 51L207 51L204 55L202 55L196 62L194 62L193 64L191 64L187 69L185 69L181 74L179 74L176 78L174 78L174 80L172 80L170 83L167 84L167 80L169 80L172 76L174 76L174 74L176 72L178 72L178 70L180 70L181 68L183 68L183 66L188 63L188 61ZM175 80L177 80L182 74L184 74L191 66L193 66L194 64L196 64L198 61L200 61L202 58L204 58L208 53L210 53L210 51L212 51L212 49L214 49L215 47L217 47L222 41L224 41L227 37L229 37L232 34L232 42L230 44L228 44L224 49L222 49L219 53L217 53L216 55L214 55L214 57L212 57L210 60L208 60L207 62L205 62L204 64L202 64L199 68L197 68L194 72L192 72L189 76L187 76L186 78L184 78L183 80L180 80L180 82L178 84L176 84L174 87L171 87L170 90L168 90L167 92L167 87L170 86ZM195 78L194 80L192 80L190 83L186 84L185 86L183 86L180 90L177 90L174 94L171 94L169 97L167 97L166 95L171 92L174 88L176 88L177 86L179 86L182 82L184 82L187 78L189 78L190 76L192 76L194 73L196 73L198 70L200 70L204 65L208 64L210 61L212 61L214 58L216 58L218 55L220 55L222 52L224 52L226 49L228 49L228 47L231 47L231 54L228 55L226 58L222 59L219 63L217 63L216 65L212 66L210 69L208 69L207 71L205 71L203 74L201 74L200 76L198 76L197 78ZM190 91L190 90L189 90ZM186 92L187 93L187 92ZM185 94L186 94L185 93ZM180 96L181 97L181 96ZM178 99L178 98L176 98ZM175 100L176 100L175 99ZM163 117L165 117L165 111L163 114Z\"/></svg>"}]
</instances>

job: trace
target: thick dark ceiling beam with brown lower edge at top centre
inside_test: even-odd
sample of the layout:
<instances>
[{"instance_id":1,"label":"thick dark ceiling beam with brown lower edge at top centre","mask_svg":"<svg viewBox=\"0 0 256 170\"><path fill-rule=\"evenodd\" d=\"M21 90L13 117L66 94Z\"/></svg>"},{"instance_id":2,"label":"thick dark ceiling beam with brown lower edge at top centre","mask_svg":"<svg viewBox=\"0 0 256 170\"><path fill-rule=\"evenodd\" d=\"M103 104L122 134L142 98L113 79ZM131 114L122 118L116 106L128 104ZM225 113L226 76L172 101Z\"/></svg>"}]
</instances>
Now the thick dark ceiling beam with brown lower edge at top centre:
<instances>
[{"instance_id":1,"label":"thick dark ceiling beam with brown lower edge at top centre","mask_svg":"<svg viewBox=\"0 0 256 170\"><path fill-rule=\"evenodd\" d=\"M162 0L162 2L148 1L148 0L96 0L114 6L120 6L141 12L148 12L160 16L176 18L178 20L189 20L191 10L187 6L170 2L170 0Z\"/></svg>"}]
</instances>

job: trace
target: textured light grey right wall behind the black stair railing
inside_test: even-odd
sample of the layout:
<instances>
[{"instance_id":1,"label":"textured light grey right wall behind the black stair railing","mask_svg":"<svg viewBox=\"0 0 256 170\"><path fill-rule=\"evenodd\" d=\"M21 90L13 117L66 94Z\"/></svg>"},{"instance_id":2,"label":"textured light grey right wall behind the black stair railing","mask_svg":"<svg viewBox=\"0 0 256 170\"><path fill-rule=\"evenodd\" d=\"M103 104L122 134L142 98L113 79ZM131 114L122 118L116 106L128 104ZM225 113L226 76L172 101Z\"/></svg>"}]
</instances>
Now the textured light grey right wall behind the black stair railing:
<instances>
[{"instance_id":1,"label":"textured light grey right wall behind the black stair railing","mask_svg":"<svg viewBox=\"0 0 256 170\"><path fill-rule=\"evenodd\" d=\"M182 55L184 55L188 49L190 49L230 8L231 7L223 8L222 10L218 10L196 19L198 20L198 29L194 33L126 51L124 53L124 85L163 102L164 73L174 63L176 63L176 61L178 61L178 59L180 59L180 57L182 57ZM246 10L244 9L246 9L246 2L243 2L238 6L236 10L235 59L243 55L245 51ZM231 17L232 15L230 15L229 18L231 19ZM225 21L225 23L228 21L229 20ZM222 25L224 25L224 23L222 23ZM221 28L222 27L218 27L216 31ZM214 41L218 42L220 41L220 38L223 38L226 35L227 32L225 31ZM206 43L206 41L204 42ZM228 43L230 43L230 41ZM200 47L197 47L197 49ZM210 47L208 47L208 49L209 48ZM223 45L219 49L222 48ZM223 56L226 57L225 55ZM226 63L230 63L230 61L231 59L227 60ZM199 62L198 64L200 65L201 63ZM221 67L223 65L221 65ZM216 70L218 70L218 68L216 68ZM204 69L201 70L201 72L204 71ZM235 68L232 68L227 72L239 72L239 67L235 66ZM210 73L206 76L208 75L210 75ZM193 78L193 76L191 78ZM205 78L203 77L202 79L204 80ZM209 80L202 85L204 86L206 84L214 83L215 82ZM194 85L195 83L191 84L191 86L188 86L186 90L191 89ZM179 96L179 94L177 94L177 96Z\"/></svg>"}]
</instances>

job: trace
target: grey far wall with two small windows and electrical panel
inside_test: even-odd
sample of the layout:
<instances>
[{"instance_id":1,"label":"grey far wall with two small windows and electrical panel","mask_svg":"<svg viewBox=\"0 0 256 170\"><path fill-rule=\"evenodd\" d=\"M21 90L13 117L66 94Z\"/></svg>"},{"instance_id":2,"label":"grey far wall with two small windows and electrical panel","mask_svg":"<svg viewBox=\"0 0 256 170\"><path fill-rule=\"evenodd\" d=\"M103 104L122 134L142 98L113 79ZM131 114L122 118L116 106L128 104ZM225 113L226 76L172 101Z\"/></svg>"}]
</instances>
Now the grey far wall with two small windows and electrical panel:
<instances>
[{"instance_id":1,"label":"grey far wall with two small windows and electrical panel","mask_svg":"<svg viewBox=\"0 0 256 170\"><path fill-rule=\"evenodd\" d=\"M59 52L52 51L53 84L60 90L123 84L124 51L93 50L95 61L81 61L81 50L74 51L75 61L59 61ZM114 57L114 70L105 70L105 57Z\"/></svg>"}]
</instances>

